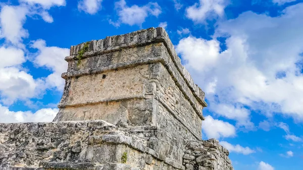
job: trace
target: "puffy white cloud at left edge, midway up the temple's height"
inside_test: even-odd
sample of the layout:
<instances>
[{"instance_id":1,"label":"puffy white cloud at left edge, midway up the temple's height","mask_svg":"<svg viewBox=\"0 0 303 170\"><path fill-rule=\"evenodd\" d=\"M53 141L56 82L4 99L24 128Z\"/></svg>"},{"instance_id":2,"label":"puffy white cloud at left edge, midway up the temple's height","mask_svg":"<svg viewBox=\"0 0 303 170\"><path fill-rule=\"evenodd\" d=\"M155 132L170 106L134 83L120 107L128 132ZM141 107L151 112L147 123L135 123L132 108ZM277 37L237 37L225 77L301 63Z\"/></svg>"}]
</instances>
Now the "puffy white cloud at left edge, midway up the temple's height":
<instances>
[{"instance_id":1,"label":"puffy white cloud at left edge, midway up the temple's height","mask_svg":"<svg viewBox=\"0 0 303 170\"><path fill-rule=\"evenodd\" d=\"M0 47L0 101L12 104L20 99L34 97L40 91L38 84L41 80L34 80L31 75L21 70L25 60L21 49L9 46Z\"/></svg>"}]
</instances>

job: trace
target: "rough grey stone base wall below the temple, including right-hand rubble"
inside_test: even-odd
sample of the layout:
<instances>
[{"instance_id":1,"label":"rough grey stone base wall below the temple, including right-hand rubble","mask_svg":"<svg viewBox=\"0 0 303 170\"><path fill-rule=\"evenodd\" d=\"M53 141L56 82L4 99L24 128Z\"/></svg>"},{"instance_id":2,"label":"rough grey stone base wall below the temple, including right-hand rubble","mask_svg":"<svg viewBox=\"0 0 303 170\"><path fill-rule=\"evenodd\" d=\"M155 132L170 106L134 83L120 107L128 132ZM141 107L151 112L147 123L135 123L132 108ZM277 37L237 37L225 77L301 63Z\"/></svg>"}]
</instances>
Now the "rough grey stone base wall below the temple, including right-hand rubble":
<instances>
[{"instance_id":1,"label":"rough grey stone base wall below the temple, including right-hand rubble","mask_svg":"<svg viewBox=\"0 0 303 170\"><path fill-rule=\"evenodd\" d=\"M162 136L170 135L105 121L0 124L0 169L233 169L217 140L189 141L178 153Z\"/></svg>"}]
</instances>

